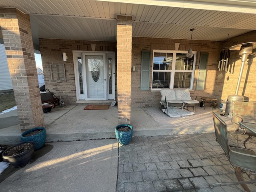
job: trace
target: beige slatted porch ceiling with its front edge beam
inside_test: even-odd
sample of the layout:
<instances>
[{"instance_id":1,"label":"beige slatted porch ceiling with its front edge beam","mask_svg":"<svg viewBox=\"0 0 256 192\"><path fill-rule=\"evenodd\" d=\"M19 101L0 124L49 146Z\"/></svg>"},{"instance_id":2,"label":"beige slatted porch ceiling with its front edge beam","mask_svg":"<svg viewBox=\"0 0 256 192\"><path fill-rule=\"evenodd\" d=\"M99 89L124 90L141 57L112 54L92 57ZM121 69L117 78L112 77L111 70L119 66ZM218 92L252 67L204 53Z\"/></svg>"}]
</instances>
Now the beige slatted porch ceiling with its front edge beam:
<instances>
[{"instance_id":1,"label":"beige slatted porch ceiling with its front edge beam","mask_svg":"<svg viewBox=\"0 0 256 192\"><path fill-rule=\"evenodd\" d=\"M35 41L116 41L116 14L132 15L136 37L190 39L195 28L195 40L223 41L256 30L255 0L2 0L0 7L29 14Z\"/></svg>"}]
</instances>

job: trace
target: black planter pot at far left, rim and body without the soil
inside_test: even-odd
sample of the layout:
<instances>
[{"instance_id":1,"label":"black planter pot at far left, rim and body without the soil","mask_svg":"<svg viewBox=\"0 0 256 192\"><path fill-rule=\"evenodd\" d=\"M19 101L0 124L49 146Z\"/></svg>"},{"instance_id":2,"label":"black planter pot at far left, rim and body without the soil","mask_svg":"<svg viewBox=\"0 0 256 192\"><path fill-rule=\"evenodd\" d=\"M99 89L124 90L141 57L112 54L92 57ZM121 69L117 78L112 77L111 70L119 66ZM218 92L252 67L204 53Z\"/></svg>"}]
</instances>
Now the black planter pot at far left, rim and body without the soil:
<instances>
[{"instance_id":1,"label":"black planter pot at far left, rim and body without the soil","mask_svg":"<svg viewBox=\"0 0 256 192\"><path fill-rule=\"evenodd\" d=\"M10 150L16 146L19 146L21 144L24 144L24 143L32 143L33 145L29 150L26 150L23 153L20 153L20 154L14 155L14 156L6 156L6 152L8 150ZM36 146L36 142L34 142L34 141L27 141L27 142L22 142L22 143L13 145L3 152L2 158L4 160L7 160L14 167L22 167L31 161L35 146Z\"/></svg>"}]
</instances>

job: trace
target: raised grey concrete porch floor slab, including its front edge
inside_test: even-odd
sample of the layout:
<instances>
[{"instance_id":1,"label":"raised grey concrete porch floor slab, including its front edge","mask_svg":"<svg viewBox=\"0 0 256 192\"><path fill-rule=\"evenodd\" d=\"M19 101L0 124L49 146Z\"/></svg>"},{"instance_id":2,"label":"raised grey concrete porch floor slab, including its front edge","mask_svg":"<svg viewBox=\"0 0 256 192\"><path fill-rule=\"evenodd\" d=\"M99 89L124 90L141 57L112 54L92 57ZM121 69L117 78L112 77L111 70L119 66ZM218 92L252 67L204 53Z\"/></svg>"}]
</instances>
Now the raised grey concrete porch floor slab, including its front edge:
<instances>
[{"instance_id":1,"label":"raised grey concrete porch floor slab, including its front edge","mask_svg":"<svg viewBox=\"0 0 256 192\"><path fill-rule=\"evenodd\" d=\"M86 105L65 106L52 109L44 114L47 132L46 142L94 140L115 138L117 126L117 106L108 110L84 110ZM192 108L189 110L192 110ZM218 109L214 109L218 110ZM12 117L12 118L10 118ZM10 121L10 126L0 129L0 144L20 142L19 124L13 125L18 118L17 110L0 114L0 121ZM132 108L131 125L134 136L162 136L173 134L199 134L214 132L212 108L196 107L196 114L171 118L158 107Z\"/></svg>"}]
</instances>

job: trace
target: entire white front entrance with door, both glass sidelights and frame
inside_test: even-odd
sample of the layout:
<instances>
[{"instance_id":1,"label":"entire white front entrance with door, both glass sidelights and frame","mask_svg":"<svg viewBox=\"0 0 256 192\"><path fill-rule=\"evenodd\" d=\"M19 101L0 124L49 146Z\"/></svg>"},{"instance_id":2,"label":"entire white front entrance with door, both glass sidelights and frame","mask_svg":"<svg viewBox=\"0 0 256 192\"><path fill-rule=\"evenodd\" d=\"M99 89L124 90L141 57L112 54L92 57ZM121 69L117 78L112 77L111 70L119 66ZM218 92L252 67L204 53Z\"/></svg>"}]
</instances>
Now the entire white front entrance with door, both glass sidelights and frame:
<instances>
[{"instance_id":1,"label":"entire white front entrance with door, both glass sidelights and frame","mask_svg":"<svg viewBox=\"0 0 256 192\"><path fill-rule=\"evenodd\" d=\"M73 57L76 100L114 100L114 52L73 51Z\"/></svg>"}]
</instances>

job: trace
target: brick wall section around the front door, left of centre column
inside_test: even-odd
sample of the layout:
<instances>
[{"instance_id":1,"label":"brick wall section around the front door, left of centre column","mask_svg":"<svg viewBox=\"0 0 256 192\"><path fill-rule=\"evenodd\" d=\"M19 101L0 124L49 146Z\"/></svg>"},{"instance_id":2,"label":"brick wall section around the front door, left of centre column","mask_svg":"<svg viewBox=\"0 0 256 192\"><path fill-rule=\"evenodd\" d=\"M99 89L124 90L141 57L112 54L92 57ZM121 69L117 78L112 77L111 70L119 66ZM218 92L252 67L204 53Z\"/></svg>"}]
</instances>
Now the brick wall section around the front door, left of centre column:
<instances>
[{"instance_id":1,"label":"brick wall section around the front door, left of centre column","mask_svg":"<svg viewBox=\"0 0 256 192\"><path fill-rule=\"evenodd\" d=\"M44 82L46 88L62 96L67 105L76 104L76 87L74 76L73 50L91 51L90 44L96 44L96 51L116 52L116 42L95 42L80 40L40 39L40 52L44 70ZM62 52L66 52L68 59L63 61ZM116 54L116 53L115 53ZM50 76L50 64L65 64L66 82L52 82ZM116 66L116 65L115 65ZM117 90L117 88L116 88Z\"/></svg>"}]
</instances>

